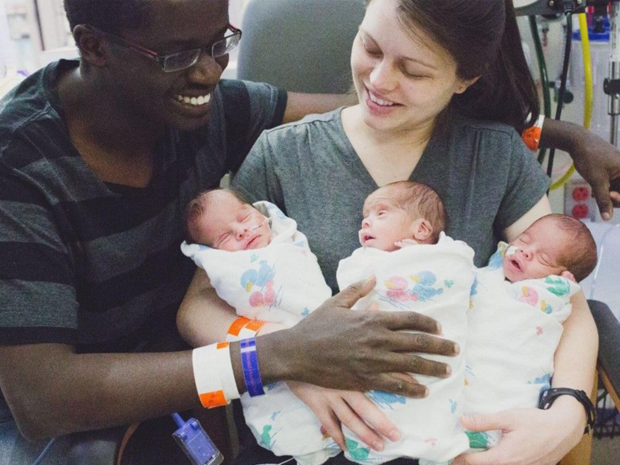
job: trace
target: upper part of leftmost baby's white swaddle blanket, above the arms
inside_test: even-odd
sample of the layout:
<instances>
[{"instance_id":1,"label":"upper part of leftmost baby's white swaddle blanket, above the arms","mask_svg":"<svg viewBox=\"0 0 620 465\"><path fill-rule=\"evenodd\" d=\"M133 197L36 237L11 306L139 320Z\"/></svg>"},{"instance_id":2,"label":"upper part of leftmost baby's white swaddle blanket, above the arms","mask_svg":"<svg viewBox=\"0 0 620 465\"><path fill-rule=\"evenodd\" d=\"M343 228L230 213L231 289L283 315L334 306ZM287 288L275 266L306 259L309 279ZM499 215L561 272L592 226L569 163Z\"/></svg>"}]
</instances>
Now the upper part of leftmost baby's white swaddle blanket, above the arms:
<instances>
[{"instance_id":1,"label":"upper part of leftmost baby's white swaddle blanket, above the arms","mask_svg":"<svg viewBox=\"0 0 620 465\"><path fill-rule=\"evenodd\" d=\"M184 242L181 251L206 271L218 296L238 315L290 327L332 293L295 220L273 203L254 206L271 223L267 247L228 252Z\"/></svg>"}]
</instances>

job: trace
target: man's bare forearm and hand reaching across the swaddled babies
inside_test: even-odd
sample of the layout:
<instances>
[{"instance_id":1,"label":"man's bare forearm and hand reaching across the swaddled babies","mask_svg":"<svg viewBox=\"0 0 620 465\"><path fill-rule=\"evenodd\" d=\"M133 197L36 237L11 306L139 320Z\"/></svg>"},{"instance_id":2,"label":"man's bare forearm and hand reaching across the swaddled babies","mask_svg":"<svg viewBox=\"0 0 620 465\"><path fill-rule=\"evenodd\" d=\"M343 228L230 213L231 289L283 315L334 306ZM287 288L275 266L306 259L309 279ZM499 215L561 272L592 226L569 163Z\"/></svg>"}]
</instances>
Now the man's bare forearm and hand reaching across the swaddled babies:
<instances>
[{"instance_id":1,"label":"man's bare forearm and hand reaching across the swaddled babies","mask_svg":"<svg viewBox=\"0 0 620 465\"><path fill-rule=\"evenodd\" d=\"M425 387L391 372L445 376L444 363L411 355L456 353L453 342L431 335L439 331L433 319L414 312L349 311L373 287L374 280L349 286L293 328L257 338L263 383L293 379L419 397ZM244 392L239 343L230 347L237 387ZM20 431L30 439L122 425L198 405L190 351L76 354L66 344L4 346L0 387Z\"/></svg>"}]
</instances>

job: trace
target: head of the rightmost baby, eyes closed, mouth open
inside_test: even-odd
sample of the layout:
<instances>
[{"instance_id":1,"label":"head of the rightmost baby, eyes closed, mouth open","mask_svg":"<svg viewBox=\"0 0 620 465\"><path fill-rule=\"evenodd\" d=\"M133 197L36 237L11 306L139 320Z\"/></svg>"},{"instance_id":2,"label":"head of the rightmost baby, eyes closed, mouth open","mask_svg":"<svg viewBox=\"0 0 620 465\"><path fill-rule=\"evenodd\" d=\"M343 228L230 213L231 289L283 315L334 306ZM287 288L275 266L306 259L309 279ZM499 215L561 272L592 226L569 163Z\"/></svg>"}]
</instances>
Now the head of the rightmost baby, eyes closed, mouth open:
<instances>
[{"instance_id":1,"label":"head of the rightmost baby, eyes closed, mouth open","mask_svg":"<svg viewBox=\"0 0 620 465\"><path fill-rule=\"evenodd\" d=\"M512 282L563 272L579 282L596 266L596 243L581 221L554 213L534 221L510 243L502 266Z\"/></svg>"}]
</instances>

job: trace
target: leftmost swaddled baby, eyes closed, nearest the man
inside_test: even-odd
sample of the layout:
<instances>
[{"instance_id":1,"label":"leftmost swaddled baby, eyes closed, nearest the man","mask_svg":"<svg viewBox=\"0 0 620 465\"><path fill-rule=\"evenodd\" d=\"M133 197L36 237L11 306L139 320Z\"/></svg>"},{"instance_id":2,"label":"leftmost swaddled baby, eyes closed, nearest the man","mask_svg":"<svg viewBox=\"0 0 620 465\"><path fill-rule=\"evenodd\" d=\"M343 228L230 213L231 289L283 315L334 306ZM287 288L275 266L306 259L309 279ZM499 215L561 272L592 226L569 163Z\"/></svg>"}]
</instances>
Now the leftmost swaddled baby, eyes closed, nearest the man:
<instances>
[{"instance_id":1,"label":"leftmost swaddled baby, eyes closed, nearest the man","mask_svg":"<svg viewBox=\"0 0 620 465\"><path fill-rule=\"evenodd\" d=\"M272 203L210 190L190 202L186 223L182 252L238 315L291 327L331 296L306 236ZM276 455L316 465L340 453L285 382L265 386L264 396L246 393L241 404L257 442Z\"/></svg>"}]
</instances>

